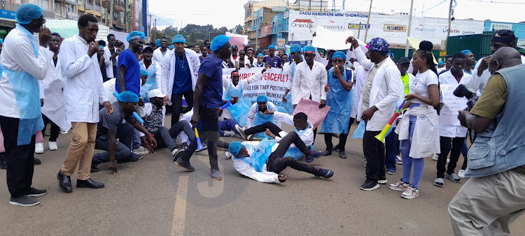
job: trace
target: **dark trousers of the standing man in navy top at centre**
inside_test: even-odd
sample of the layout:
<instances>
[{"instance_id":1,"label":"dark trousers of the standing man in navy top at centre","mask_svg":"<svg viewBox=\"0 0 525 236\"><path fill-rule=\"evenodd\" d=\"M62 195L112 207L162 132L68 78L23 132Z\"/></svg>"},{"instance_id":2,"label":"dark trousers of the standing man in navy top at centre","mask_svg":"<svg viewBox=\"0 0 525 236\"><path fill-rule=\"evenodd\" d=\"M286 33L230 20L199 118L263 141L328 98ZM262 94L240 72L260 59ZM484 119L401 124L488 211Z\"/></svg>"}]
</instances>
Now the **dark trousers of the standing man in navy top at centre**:
<instances>
[{"instance_id":1,"label":"dark trousers of the standing man in navy top at centre","mask_svg":"<svg viewBox=\"0 0 525 236\"><path fill-rule=\"evenodd\" d=\"M201 122L201 132L199 133L200 140L206 140L208 144L208 156L211 169L218 169L217 161L217 144L219 138L218 132L218 109L209 109L202 106L199 107L199 115ZM184 155L181 157L183 161L190 161L193 152L197 150L197 138L190 138L190 145Z\"/></svg>"}]
</instances>

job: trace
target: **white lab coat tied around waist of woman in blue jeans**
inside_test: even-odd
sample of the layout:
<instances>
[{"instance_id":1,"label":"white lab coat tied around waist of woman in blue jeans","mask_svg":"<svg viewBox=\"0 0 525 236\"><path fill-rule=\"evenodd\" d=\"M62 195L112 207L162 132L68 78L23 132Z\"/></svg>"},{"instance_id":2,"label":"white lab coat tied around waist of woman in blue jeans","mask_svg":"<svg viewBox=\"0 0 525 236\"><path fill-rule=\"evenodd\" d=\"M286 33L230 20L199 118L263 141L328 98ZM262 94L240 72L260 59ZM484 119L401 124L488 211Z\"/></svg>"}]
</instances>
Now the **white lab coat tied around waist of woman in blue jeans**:
<instances>
[{"instance_id":1,"label":"white lab coat tied around waist of woman in blue jeans","mask_svg":"<svg viewBox=\"0 0 525 236\"><path fill-rule=\"evenodd\" d=\"M412 134L412 145L410 145L409 156L412 158L424 158L433 154L440 154L440 135L437 132L437 112L427 104L419 107L410 108L405 112L395 128L395 133L399 135L399 140L409 139L410 115L417 117L414 133Z\"/></svg>"}]
</instances>

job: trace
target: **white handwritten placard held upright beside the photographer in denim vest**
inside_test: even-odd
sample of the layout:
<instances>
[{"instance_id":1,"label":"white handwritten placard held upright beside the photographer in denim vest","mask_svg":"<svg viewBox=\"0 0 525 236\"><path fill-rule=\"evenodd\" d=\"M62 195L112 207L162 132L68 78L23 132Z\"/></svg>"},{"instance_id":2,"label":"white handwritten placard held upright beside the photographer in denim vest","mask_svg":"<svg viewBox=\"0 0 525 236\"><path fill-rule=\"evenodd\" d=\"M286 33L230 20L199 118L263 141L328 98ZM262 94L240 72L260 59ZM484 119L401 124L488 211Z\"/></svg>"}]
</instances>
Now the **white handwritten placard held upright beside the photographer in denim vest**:
<instances>
[{"instance_id":1,"label":"white handwritten placard held upright beside the photographer in denim vest","mask_svg":"<svg viewBox=\"0 0 525 236\"><path fill-rule=\"evenodd\" d=\"M458 84L440 84L441 96L443 98L443 108L441 108L440 115L437 121L440 124L451 124L460 126L458 119L458 110L463 110L467 107L467 98L458 98L454 96L454 89Z\"/></svg>"}]
</instances>

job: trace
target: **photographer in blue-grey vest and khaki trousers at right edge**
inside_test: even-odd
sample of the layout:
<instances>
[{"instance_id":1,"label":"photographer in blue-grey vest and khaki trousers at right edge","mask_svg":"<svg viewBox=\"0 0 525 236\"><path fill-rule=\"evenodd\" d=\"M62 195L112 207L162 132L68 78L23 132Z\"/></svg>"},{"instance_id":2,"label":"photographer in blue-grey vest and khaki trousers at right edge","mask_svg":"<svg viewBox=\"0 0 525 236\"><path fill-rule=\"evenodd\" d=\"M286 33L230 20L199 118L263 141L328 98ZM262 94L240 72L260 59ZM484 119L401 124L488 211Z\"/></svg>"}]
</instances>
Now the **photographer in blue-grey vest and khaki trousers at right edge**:
<instances>
[{"instance_id":1,"label":"photographer in blue-grey vest and khaki trousers at right edge","mask_svg":"<svg viewBox=\"0 0 525 236\"><path fill-rule=\"evenodd\" d=\"M471 177L449 205L454 235L510 235L510 223L525 209L525 66L512 47L497 50L492 73L462 126L478 133L468 153Z\"/></svg>"}]
</instances>

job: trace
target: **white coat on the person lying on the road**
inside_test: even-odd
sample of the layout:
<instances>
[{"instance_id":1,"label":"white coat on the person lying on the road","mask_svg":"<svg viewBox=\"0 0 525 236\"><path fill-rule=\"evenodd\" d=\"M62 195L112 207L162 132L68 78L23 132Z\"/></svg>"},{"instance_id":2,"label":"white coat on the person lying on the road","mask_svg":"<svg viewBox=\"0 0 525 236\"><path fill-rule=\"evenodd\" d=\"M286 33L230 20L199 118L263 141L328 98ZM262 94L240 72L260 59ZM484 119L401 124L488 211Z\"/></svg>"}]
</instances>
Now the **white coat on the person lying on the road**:
<instances>
[{"instance_id":1,"label":"white coat on the person lying on the road","mask_svg":"<svg viewBox=\"0 0 525 236\"><path fill-rule=\"evenodd\" d=\"M259 142L248 142L248 141L245 141L245 142L242 142L243 145L252 145L253 147L257 148L257 146L259 145ZM276 143L273 147L272 147L272 152L275 151L275 149L277 149L277 147L279 147L279 144ZM252 151L251 149L248 149L248 154L252 154ZM279 184L279 175L277 175L276 173L274 172L269 172L267 171L267 166L266 164L262 165L262 171L261 172L258 172L257 170L255 170L253 167L251 167L251 165L248 165L248 163L242 161L242 160L239 160L239 159L234 159L232 158L232 161L233 161L233 168L235 168L235 170L237 170L237 172L239 172L241 175L244 175L250 179L253 179L253 180L256 180L258 182L262 182L262 183L275 183L275 184Z\"/></svg>"}]
</instances>

